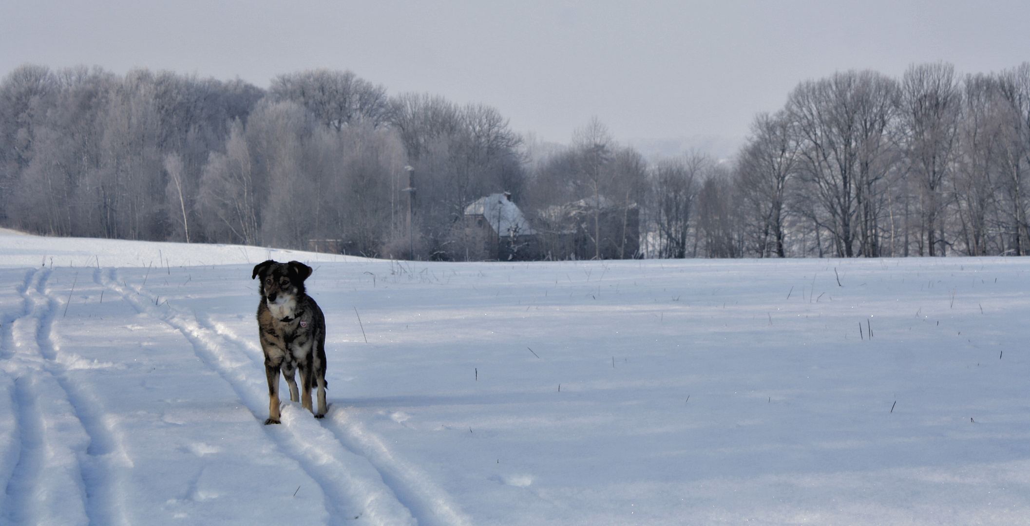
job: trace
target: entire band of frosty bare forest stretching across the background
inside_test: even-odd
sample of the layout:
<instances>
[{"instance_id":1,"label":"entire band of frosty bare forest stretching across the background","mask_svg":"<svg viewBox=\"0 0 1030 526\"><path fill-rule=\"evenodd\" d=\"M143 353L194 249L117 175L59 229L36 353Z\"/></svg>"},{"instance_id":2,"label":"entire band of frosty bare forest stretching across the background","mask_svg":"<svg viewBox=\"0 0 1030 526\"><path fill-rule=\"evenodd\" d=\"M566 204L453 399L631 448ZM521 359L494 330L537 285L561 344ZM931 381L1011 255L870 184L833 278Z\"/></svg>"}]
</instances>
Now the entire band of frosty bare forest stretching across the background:
<instances>
[{"instance_id":1,"label":"entire band of frosty bare forest stretching across the background","mask_svg":"<svg viewBox=\"0 0 1030 526\"><path fill-rule=\"evenodd\" d=\"M494 241L533 234L531 258L1025 255L1028 177L1028 63L805 80L728 160L645 159L597 119L540 143L490 106L350 71L0 82L0 224L50 236L462 260L482 243L467 207L509 192L531 232ZM593 248L561 242L576 232Z\"/></svg>"}]
</instances>

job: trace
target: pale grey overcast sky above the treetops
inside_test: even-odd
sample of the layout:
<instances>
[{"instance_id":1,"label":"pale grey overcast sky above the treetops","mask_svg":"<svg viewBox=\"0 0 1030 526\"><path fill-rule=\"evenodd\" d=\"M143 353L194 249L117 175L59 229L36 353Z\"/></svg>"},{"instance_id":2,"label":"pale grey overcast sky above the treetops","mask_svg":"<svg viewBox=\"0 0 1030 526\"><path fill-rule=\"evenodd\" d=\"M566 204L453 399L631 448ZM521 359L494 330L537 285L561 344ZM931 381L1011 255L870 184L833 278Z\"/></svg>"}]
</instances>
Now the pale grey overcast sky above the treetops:
<instances>
[{"instance_id":1,"label":"pale grey overcast sky above the treetops","mask_svg":"<svg viewBox=\"0 0 1030 526\"><path fill-rule=\"evenodd\" d=\"M390 94L496 107L568 142L740 140L799 81L912 63L961 73L1030 60L1025 1L0 0L0 74L29 62L168 69L262 87L350 69Z\"/></svg>"}]
</instances>

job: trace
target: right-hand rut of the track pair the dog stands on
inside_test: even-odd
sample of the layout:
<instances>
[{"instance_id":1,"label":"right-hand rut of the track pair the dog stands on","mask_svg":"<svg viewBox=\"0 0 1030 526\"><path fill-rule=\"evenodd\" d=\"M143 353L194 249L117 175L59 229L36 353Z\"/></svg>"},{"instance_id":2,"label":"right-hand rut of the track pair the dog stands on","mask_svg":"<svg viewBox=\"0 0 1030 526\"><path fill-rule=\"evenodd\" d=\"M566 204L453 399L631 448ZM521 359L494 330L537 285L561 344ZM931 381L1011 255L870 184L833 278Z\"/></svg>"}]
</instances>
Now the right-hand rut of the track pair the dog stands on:
<instances>
[{"instance_id":1,"label":"right-hand rut of the track pair the dog stands on","mask_svg":"<svg viewBox=\"0 0 1030 526\"><path fill-rule=\"evenodd\" d=\"M251 360L264 367L264 354L254 340L241 338L222 323L212 321L207 315L197 315L197 321L217 332L245 351ZM392 489L398 499L411 510L418 524L425 526L467 526L471 519L454 503L450 495L433 483L428 474L394 455L382 440L343 412L334 411L321 424L333 432L346 449L364 456L379 471L383 482Z\"/></svg>"}]
</instances>

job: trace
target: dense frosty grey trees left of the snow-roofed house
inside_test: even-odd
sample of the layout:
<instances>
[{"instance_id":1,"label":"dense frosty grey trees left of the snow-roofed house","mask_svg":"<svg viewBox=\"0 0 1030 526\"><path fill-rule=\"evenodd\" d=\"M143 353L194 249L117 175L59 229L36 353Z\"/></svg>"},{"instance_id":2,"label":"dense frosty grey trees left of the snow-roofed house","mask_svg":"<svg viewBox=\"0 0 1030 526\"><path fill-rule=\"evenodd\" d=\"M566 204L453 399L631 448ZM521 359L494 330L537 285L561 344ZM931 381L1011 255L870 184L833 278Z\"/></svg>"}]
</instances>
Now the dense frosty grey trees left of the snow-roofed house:
<instances>
[{"instance_id":1,"label":"dense frosty grey trees left of the snow-roofed house","mask_svg":"<svg viewBox=\"0 0 1030 526\"><path fill-rule=\"evenodd\" d=\"M464 204L518 189L520 138L493 108L401 94L349 71L268 90L173 72L24 65L0 83L0 222L53 236L330 241L446 257ZM410 254L405 167L420 178Z\"/></svg>"}]
</instances>

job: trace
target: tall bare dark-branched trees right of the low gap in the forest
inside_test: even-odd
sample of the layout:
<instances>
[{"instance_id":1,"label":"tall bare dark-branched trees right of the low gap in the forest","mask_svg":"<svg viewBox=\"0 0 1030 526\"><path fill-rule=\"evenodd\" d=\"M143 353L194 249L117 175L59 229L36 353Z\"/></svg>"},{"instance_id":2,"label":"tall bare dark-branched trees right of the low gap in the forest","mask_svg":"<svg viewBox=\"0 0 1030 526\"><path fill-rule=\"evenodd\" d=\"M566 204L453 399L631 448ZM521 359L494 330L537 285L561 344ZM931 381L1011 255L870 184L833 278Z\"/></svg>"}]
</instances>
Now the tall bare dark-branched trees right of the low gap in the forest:
<instances>
[{"instance_id":1,"label":"tall bare dark-branched trees right of the low gap in the forest","mask_svg":"<svg viewBox=\"0 0 1030 526\"><path fill-rule=\"evenodd\" d=\"M757 115L721 255L1025 255L1030 64L838 72ZM725 248L723 248L725 247Z\"/></svg>"}]
</instances>

